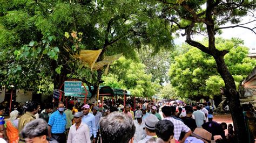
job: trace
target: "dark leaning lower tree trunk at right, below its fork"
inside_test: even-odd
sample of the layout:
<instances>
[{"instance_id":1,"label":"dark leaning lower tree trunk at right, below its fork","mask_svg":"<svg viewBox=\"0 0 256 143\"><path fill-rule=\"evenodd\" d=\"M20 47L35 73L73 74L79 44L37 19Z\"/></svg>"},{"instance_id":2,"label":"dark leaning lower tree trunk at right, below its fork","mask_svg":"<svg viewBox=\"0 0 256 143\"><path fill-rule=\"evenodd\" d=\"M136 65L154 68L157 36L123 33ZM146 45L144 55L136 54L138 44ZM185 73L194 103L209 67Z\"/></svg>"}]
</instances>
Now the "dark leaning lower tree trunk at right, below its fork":
<instances>
[{"instance_id":1,"label":"dark leaning lower tree trunk at right, below its fork","mask_svg":"<svg viewBox=\"0 0 256 143\"><path fill-rule=\"evenodd\" d=\"M227 69L224 61L224 56L215 55L214 59L217 63L217 69L220 76L225 82L224 95L227 97L228 106L231 111L233 125L235 130L235 135L237 135L237 142L246 142L246 128L244 116L242 114L242 108L239 100L239 93L235 87L235 82L233 76Z\"/></svg>"}]
</instances>

